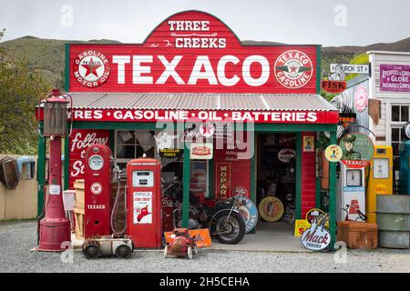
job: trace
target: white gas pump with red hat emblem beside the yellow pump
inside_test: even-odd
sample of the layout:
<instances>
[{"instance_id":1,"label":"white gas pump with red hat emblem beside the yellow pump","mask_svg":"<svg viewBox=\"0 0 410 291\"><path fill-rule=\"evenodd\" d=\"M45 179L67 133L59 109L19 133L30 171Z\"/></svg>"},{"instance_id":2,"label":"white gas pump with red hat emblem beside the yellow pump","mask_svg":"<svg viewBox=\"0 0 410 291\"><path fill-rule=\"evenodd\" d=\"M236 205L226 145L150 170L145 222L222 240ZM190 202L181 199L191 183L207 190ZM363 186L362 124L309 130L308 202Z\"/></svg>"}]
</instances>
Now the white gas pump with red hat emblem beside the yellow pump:
<instances>
[{"instance_id":1,"label":"white gas pump with red hat emblem beside the yellow pump","mask_svg":"<svg viewBox=\"0 0 410 291\"><path fill-rule=\"evenodd\" d=\"M360 218L358 210L365 214L364 167L350 168L340 163L337 176L337 204L343 208L349 205L349 219ZM336 219L344 220L341 207L336 211ZM358 220L360 221L360 220Z\"/></svg>"}]
</instances>

